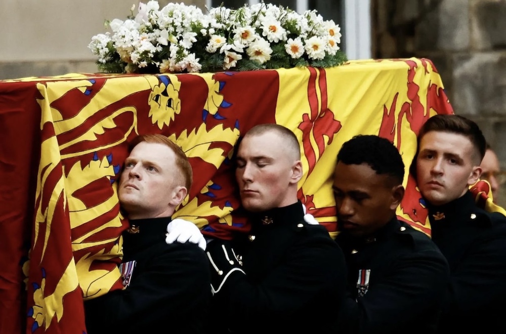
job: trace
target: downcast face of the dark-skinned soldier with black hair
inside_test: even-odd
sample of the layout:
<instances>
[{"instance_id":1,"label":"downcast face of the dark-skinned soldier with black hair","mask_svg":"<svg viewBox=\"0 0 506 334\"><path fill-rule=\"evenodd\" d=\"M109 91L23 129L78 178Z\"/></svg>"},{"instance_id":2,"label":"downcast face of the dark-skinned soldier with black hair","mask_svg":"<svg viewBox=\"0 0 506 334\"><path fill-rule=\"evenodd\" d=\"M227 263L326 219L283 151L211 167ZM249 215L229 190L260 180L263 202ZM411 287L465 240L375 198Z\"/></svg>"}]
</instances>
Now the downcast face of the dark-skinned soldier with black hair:
<instances>
[{"instance_id":1,"label":"downcast face of the dark-skinned soldier with black hair","mask_svg":"<svg viewBox=\"0 0 506 334\"><path fill-rule=\"evenodd\" d=\"M366 163L335 166L334 192L339 228L354 236L367 236L395 215L404 194L387 175L377 175Z\"/></svg>"}]
</instances>

